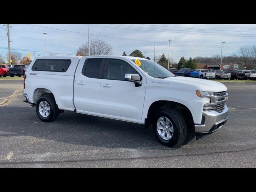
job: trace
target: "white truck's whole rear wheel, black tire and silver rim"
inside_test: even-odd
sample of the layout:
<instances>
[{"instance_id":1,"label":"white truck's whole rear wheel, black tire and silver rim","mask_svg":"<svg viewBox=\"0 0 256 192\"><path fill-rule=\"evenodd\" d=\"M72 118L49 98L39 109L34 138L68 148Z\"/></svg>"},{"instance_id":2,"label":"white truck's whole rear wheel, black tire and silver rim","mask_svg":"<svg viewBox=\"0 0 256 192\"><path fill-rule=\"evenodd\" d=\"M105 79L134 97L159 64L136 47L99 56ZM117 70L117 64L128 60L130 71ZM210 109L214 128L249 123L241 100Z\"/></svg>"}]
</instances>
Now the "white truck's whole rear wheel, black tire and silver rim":
<instances>
[{"instance_id":1,"label":"white truck's whole rear wheel, black tire and silver rim","mask_svg":"<svg viewBox=\"0 0 256 192\"><path fill-rule=\"evenodd\" d=\"M44 122L53 121L59 116L58 107L52 94L44 94L38 98L36 114Z\"/></svg>"}]
</instances>

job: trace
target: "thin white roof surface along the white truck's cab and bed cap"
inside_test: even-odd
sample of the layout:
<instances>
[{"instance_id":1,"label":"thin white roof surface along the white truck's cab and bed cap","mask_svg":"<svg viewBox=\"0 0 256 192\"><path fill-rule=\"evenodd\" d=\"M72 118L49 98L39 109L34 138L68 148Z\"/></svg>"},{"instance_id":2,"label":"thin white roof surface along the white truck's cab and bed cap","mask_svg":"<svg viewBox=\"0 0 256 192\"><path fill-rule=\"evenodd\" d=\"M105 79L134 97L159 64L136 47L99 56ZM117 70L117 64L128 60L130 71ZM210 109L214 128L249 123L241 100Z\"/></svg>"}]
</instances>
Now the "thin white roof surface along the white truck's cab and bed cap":
<instances>
[{"instance_id":1,"label":"thin white roof surface along the white truck's cab and bed cap","mask_svg":"<svg viewBox=\"0 0 256 192\"><path fill-rule=\"evenodd\" d=\"M34 59L53 59L53 58L58 58L58 59L70 59L70 58L82 58L82 57L90 57L90 58L99 58L99 57L115 57L115 58L128 58L128 59L138 59L138 60L148 60L146 58L141 58L141 57L132 57L132 56L120 56L120 55L96 55L96 56L40 56L40 57L35 57Z\"/></svg>"}]
</instances>

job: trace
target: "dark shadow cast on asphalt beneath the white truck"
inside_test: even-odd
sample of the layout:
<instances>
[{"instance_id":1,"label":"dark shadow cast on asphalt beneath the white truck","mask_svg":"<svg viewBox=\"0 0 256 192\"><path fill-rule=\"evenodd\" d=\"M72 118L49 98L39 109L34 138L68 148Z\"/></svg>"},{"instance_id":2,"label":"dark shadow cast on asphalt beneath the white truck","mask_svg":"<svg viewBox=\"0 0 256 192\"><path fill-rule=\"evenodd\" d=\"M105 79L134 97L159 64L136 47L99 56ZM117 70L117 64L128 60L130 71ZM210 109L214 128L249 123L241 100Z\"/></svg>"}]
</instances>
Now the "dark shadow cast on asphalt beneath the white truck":
<instances>
[{"instance_id":1,"label":"dark shadow cast on asphalt beneath the white truck","mask_svg":"<svg viewBox=\"0 0 256 192\"><path fill-rule=\"evenodd\" d=\"M54 122L42 122L32 107L0 107L1 136L33 136L47 140L64 142L74 145L86 145L108 148L150 148L166 149L155 138L152 128L144 125L100 118L96 116L64 112ZM194 139L188 132L185 143ZM14 138L15 139L15 138ZM172 148L170 148L172 149Z\"/></svg>"}]
</instances>

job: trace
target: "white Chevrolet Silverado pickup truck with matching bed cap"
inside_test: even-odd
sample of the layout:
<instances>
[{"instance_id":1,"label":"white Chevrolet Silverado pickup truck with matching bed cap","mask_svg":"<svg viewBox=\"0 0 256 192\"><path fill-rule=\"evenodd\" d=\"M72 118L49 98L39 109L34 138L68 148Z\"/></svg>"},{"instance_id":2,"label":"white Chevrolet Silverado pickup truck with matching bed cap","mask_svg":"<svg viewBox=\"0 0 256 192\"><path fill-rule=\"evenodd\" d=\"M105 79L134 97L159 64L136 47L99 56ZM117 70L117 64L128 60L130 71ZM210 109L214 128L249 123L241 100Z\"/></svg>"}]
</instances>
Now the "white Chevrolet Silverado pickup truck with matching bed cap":
<instances>
[{"instance_id":1,"label":"white Chevrolet Silverado pickup truck with matching bed cap","mask_svg":"<svg viewBox=\"0 0 256 192\"><path fill-rule=\"evenodd\" d=\"M174 76L129 56L36 57L24 75L24 97L44 122L68 110L152 125L167 146L181 145L188 128L210 134L228 120L224 84Z\"/></svg>"}]
</instances>

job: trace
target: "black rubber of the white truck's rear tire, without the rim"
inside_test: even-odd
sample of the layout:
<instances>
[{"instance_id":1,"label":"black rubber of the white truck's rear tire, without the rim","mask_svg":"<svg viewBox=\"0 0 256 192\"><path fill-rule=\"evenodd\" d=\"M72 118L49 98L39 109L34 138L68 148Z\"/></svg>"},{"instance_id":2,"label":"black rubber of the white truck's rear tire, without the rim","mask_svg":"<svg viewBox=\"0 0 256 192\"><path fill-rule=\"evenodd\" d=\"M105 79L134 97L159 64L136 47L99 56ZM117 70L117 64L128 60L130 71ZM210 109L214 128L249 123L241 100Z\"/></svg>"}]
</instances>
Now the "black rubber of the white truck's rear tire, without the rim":
<instances>
[{"instance_id":1,"label":"black rubber of the white truck's rear tire, without the rim","mask_svg":"<svg viewBox=\"0 0 256 192\"><path fill-rule=\"evenodd\" d=\"M50 113L47 117L43 117L38 110L39 104L41 101L46 101L50 106ZM38 98L38 100L36 102L36 114L37 114L38 118L44 122L51 122L51 121L55 120L56 118L58 118L59 111L58 111L58 107L55 102L54 96L52 94L44 94L44 95L40 96L40 98Z\"/></svg>"}]
</instances>

